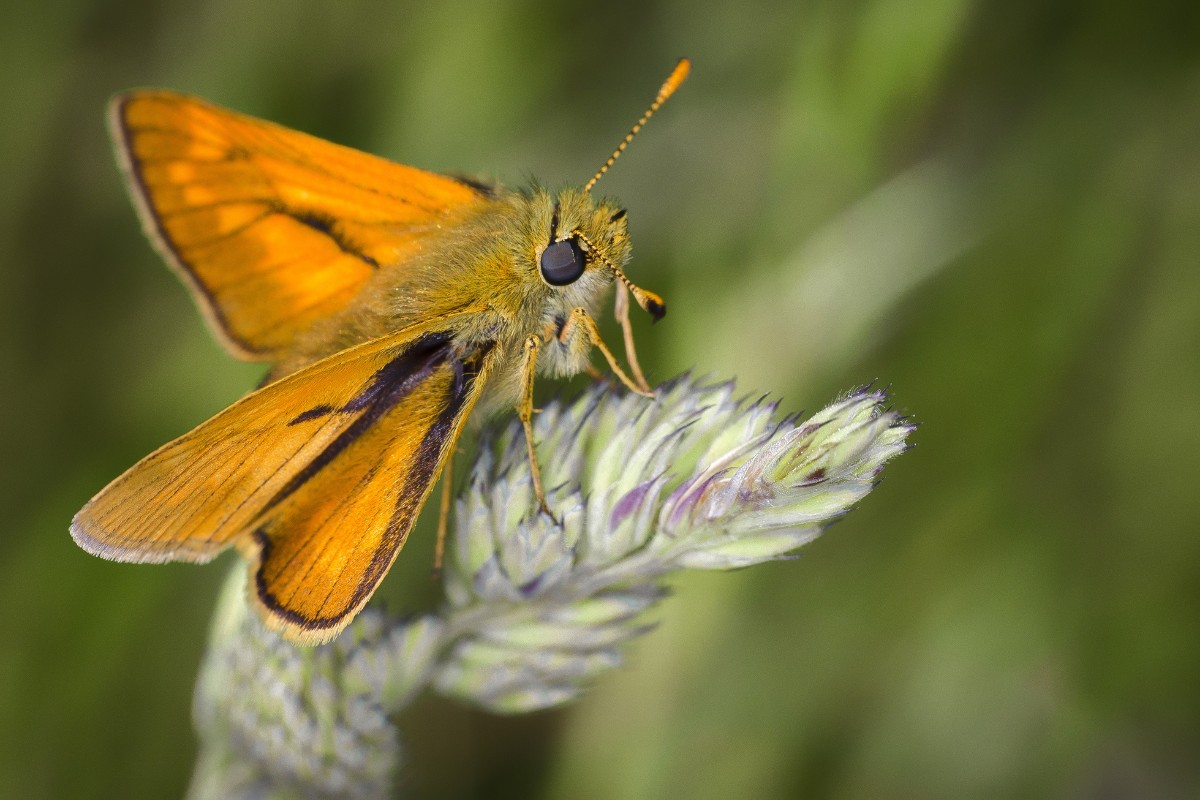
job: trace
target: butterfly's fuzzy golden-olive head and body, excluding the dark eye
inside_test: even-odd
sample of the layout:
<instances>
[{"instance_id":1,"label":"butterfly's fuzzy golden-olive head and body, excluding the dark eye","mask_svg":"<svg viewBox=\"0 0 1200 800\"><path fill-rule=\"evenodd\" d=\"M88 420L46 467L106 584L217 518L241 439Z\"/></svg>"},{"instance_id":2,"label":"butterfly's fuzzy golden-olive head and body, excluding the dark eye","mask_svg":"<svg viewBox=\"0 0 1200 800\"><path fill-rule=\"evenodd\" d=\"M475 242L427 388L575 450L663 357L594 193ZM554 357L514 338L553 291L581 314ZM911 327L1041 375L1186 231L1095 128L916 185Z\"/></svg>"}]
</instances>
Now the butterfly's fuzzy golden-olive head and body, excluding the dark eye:
<instances>
[{"instance_id":1,"label":"butterfly's fuzzy golden-olive head and body, excluding the dark eye","mask_svg":"<svg viewBox=\"0 0 1200 800\"><path fill-rule=\"evenodd\" d=\"M542 251L576 233L601 253L587 254L578 279L551 285L539 269ZM623 266L630 255L623 210L577 188L558 194L538 186L520 192L497 190L432 223L421 241L419 251L382 264L344 312L300 336L272 378L354 344L448 315L445 330L464 351L494 344L497 374L488 395L497 404L509 402L530 335L545 341L538 360L540 373L563 377L586 367L590 348L580 347L577 337L563 341L559 335L572 309L598 313L614 279L604 259ZM455 315L469 308L480 311Z\"/></svg>"}]
</instances>

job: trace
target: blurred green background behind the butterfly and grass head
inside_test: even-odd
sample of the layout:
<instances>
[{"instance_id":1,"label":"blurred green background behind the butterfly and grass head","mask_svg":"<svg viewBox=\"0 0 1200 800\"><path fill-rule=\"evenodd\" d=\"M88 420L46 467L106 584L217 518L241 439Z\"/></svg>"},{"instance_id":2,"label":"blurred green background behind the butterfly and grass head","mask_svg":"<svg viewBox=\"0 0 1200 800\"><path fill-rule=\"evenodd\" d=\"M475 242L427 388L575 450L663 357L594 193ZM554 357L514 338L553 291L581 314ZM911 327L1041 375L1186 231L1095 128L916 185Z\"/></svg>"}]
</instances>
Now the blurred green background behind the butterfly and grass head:
<instances>
[{"instance_id":1,"label":"blurred green background behind the butterfly and grass head","mask_svg":"<svg viewBox=\"0 0 1200 800\"><path fill-rule=\"evenodd\" d=\"M194 92L630 209L652 378L919 446L798 561L674 582L569 709L400 721L425 798L1200 793L1200 14L1150 0L35 5L0 28L0 796L170 798L226 566L71 515L251 387L143 239L107 98ZM611 329L610 329L611 330ZM426 528L428 519L424 521ZM427 534L428 531L426 531ZM384 584L419 608L430 536ZM222 566L224 565L224 566Z\"/></svg>"}]
</instances>

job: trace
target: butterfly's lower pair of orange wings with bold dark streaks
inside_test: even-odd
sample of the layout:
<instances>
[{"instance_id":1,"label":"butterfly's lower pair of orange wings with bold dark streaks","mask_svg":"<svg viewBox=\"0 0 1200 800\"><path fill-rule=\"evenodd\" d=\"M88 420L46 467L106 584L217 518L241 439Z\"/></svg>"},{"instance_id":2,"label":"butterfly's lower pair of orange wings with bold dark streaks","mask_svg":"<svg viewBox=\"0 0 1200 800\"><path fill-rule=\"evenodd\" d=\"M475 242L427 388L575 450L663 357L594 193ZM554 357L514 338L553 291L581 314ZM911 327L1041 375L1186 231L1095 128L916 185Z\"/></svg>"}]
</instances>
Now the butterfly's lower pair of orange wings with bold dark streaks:
<instances>
[{"instance_id":1,"label":"butterfly's lower pair of orange wings with bold dark streaks","mask_svg":"<svg viewBox=\"0 0 1200 800\"><path fill-rule=\"evenodd\" d=\"M160 447L76 515L119 561L256 564L269 625L320 643L391 566L491 371L422 325L318 361Z\"/></svg>"}]
</instances>

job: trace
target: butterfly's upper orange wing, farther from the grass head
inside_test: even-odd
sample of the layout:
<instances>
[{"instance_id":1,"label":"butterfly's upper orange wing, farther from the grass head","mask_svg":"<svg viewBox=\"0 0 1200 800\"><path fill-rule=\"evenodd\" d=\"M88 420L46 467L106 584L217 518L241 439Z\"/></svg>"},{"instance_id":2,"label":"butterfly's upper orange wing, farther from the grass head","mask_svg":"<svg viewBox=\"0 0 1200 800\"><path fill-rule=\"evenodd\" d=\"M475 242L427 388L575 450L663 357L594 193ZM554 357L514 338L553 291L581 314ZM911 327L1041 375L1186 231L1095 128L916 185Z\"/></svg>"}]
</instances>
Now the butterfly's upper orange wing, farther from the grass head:
<instances>
[{"instance_id":1,"label":"butterfly's upper orange wing, farther from the grass head","mask_svg":"<svg viewBox=\"0 0 1200 800\"><path fill-rule=\"evenodd\" d=\"M244 359L278 360L424 230L485 197L187 95L119 95L109 120L143 227Z\"/></svg>"}]
</instances>

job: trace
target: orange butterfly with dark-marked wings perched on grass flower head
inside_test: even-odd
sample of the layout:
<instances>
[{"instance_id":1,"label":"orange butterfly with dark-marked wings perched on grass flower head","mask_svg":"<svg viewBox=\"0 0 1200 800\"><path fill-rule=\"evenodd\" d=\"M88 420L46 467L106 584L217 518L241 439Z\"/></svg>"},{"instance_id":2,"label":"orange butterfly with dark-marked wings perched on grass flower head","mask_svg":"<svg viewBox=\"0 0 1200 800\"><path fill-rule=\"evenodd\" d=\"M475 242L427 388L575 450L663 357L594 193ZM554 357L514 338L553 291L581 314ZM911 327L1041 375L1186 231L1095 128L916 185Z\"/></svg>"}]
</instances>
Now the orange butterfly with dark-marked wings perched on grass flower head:
<instances>
[{"instance_id":1,"label":"orange butterfly with dark-marked wings perched on grass flower head","mask_svg":"<svg viewBox=\"0 0 1200 800\"><path fill-rule=\"evenodd\" d=\"M590 371L630 390L625 209L595 182L686 78L658 97L582 187L485 185L394 163L187 95L115 97L109 122L146 235L258 390L154 451L73 518L89 553L208 561L235 547L269 627L336 637L404 545L469 415L515 407L534 489L536 374ZM600 338L616 285L631 375ZM444 536L439 527L440 559Z\"/></svg>"}]
</instances>

